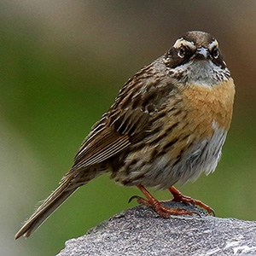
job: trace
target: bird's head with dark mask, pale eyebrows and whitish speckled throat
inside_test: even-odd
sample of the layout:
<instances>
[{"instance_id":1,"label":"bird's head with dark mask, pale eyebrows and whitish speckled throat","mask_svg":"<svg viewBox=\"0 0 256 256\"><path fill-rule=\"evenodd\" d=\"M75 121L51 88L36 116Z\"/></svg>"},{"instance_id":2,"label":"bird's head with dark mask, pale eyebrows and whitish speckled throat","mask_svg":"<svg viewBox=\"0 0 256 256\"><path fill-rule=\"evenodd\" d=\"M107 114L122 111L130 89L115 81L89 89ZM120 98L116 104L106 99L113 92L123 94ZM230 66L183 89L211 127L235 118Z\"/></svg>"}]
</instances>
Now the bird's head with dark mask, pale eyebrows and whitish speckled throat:
<instances>
[{"instance_id":1,"label":"bird's head with dark mask, pale eyebrows and whitish speckled throat","mask_svg":"<svg viewBox=\"0 0 256 256\"><path fill-rule=\"evenodd\" d=\"M186 83L212 86L230 78L218 41L207 32L187 32L177 38L164 61L170 74Z\"/></svg>"}]
</instances>

